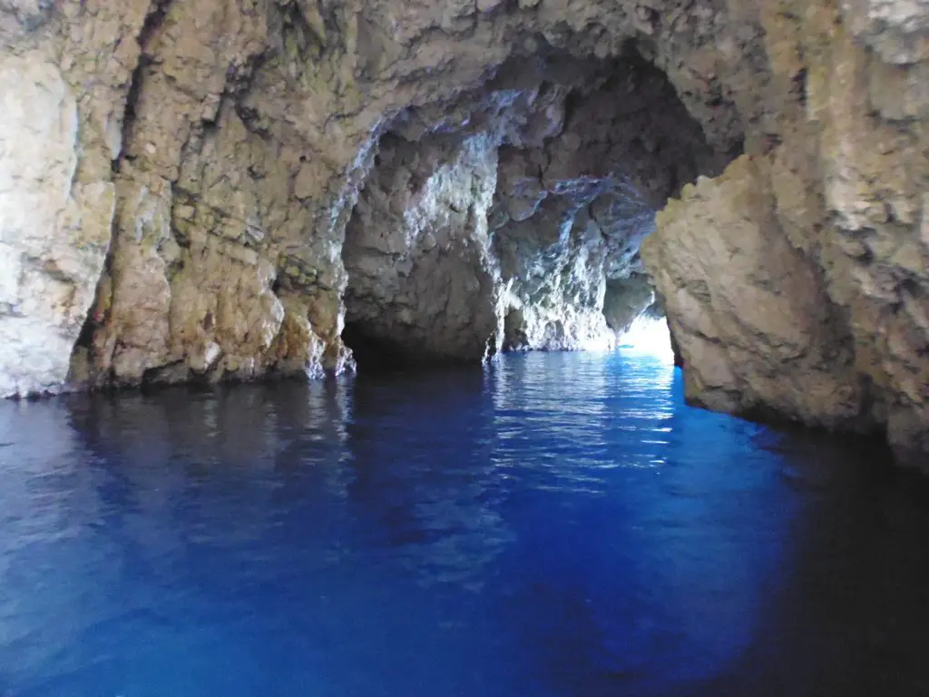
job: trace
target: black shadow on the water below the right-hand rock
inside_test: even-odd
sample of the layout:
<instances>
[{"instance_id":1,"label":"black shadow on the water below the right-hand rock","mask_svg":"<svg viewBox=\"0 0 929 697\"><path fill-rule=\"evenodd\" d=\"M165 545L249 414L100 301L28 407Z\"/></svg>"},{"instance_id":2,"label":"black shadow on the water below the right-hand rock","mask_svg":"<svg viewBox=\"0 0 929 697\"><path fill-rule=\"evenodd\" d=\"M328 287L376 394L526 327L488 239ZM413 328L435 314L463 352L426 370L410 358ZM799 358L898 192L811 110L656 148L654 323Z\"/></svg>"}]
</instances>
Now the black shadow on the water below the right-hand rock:
<instances>
[{"instance_id":1,"label":"black shadow on the water below the right-hand rock","mask_svg":"<svg viewBox=\"0 0 929 697\"><path fill-rule=\"evenodd\" d=\"M786 428L758 446L801 503L755 636L686 694L929 694L929 480L876 439Z\"/></svg>"}]
</instances>

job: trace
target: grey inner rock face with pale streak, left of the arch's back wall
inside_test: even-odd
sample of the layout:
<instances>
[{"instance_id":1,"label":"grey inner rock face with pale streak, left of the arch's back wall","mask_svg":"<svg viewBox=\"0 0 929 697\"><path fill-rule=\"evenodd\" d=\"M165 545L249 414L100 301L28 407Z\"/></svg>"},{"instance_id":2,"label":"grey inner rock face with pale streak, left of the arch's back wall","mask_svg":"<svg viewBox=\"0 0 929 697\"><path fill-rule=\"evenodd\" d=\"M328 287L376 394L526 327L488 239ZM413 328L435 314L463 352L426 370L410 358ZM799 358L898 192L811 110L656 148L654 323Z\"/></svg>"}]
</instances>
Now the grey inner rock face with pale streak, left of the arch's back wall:
<instances>
[{"instance_id":1,"label":"grey inner rock face with pale streak, left of the arch's back wall","mask_svg":"<svg viewBox=\"0 0 929 697\"><path fill-rule=\"evenodd\" d=\"M487 136L395 140L377 163L346 235L347 322L412 356L480 360L498 323L496 147Z\"/></svg>"}]
</instances>

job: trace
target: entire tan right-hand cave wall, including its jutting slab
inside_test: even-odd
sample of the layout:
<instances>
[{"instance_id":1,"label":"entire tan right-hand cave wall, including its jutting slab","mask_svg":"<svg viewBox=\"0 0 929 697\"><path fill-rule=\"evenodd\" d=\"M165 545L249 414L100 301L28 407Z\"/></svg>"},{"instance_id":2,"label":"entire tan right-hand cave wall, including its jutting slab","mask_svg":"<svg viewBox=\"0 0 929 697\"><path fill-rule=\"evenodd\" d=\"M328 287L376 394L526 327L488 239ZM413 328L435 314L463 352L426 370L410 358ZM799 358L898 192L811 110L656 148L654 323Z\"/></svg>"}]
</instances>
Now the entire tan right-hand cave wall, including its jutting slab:
<instances>
[{"instance_id":1,"label":"entire tan right-hand cave wall, including its jutting slab","mask_svg":"<svg viewBox=\"0 0 929 697\"><path fill-rule=\"evenodd\" d=\"M929 3L765 4L768 145L685 187L642 254L687 397L884 429L929 466Z\"/></svg>"}]
</instances>

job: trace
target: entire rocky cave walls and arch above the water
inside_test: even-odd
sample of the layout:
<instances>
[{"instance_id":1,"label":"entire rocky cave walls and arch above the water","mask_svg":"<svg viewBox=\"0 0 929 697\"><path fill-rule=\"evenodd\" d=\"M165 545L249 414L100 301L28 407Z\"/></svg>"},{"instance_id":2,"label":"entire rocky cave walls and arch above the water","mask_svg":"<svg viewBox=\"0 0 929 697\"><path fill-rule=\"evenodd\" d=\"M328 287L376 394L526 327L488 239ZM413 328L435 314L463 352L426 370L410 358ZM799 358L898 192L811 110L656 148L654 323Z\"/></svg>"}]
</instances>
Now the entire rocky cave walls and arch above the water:
<instances>
[{"instance_id":1,"label":"entire rocky cave walls and arch above the water","mask_svg":"<svg viewBox=\"0 0 929 697\"><path fill-rule=\"evenodd\" d=\"M608 344L651 283L691 400L929 463L927 66L929 0L0 0L0 393Z\"/></svg>"}]
</instances>

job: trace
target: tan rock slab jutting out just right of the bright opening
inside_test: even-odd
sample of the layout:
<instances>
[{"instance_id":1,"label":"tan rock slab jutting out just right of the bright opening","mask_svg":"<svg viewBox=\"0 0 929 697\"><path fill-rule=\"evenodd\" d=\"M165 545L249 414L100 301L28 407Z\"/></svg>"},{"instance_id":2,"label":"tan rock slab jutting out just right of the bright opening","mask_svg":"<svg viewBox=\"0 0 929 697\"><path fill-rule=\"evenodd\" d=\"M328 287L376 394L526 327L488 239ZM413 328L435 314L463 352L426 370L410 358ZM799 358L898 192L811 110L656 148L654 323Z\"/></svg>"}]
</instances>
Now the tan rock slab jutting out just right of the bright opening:
<instances>
[{"instance_id":1,"label":"tan rock slab jutting out just right of the bright opening","mask_svg":"<svg viewBox=\"0 0 929 697\"><path fill-rule=\"evenodd\" d=\"M836 427L862 414L842 323L779 226L770 164L743 155L685 187L642 245L686 368L687 397ZM867 424L863 424L866 426Z\"/></svg>"}]
</instances>

